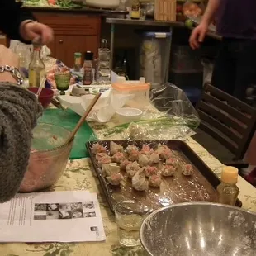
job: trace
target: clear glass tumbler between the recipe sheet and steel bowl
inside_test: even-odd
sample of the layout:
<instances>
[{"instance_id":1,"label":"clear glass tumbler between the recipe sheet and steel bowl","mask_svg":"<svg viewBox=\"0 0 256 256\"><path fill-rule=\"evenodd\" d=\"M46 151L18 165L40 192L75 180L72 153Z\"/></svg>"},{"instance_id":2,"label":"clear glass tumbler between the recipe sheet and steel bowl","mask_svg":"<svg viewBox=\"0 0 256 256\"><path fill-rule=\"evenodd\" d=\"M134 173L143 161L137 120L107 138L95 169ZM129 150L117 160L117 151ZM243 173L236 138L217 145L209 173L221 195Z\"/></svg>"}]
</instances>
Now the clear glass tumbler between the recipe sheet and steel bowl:
<instances>
[{"instance_id":1,"label":"clear glass tumbler between the recipe sheet and steel bowl","mask_svg":"<svg viewBox=\"0 0 256 256\"><path fill-rule=\"evenodd\" d=\"M140 225L149 215L149 207L138 201L121 201L114 211L119 243L129 247L140 245Z\"/></svg>"}]
</instances>

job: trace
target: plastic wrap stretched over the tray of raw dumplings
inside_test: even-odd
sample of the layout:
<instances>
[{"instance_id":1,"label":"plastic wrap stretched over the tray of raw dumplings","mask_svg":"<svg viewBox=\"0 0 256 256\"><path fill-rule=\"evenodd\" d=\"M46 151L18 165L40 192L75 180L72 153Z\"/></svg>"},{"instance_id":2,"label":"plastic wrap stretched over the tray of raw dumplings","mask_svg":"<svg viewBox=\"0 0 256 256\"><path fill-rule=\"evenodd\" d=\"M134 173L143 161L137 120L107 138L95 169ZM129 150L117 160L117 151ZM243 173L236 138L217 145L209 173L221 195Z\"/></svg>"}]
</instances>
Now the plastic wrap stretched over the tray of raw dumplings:
<instances>
[{"instance_id":1,"label":"plastic wrap stretched over the tray of raw dumplings","mask_svg":"<svg viewBox=\"0 0 256 256\"><path fill-rule=\"evenodd\" d=\"M183 141L92 141L88 143L88 152L111 207L117 201L140 201L156 210L178 202L217 199L215 186L220 183L219 179ZM153 158L153 154L159 156ZM145 164L141 155L149 157L151 162ZM127 164L133 164L135 172L130 172ZM192 173L186 176L184 168L188 165ZM163 173L166 166L174 168L168 177ZM135 175L140 176L139 181L135 182ZM159 187L150 186L153 175L161 179ZM115 186L107 177L117 181Z\"/></svg>"}]
</instances>

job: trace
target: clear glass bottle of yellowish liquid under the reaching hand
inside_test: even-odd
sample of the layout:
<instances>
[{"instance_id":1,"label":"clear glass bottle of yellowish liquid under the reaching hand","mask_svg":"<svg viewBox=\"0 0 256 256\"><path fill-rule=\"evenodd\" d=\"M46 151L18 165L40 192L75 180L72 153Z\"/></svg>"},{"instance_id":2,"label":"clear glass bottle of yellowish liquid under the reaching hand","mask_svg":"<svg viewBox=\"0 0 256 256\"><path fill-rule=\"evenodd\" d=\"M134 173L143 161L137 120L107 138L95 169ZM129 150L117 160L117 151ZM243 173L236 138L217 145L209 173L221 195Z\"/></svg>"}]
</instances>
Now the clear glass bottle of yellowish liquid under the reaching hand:
<instances>
[{"instance_id":1,"label":"clear glass bottle of yellowish liquid under the reaching hand","mask_svg":"<svg viewBox=\"0 0 256 256\"><path fill-rule=\"evenodd\" d=\"M45 64L40 58L41 47L34 45L31 63L29 64L29 86L40 87L41 79L45 77Z\"/></svg>"}]
</instances>

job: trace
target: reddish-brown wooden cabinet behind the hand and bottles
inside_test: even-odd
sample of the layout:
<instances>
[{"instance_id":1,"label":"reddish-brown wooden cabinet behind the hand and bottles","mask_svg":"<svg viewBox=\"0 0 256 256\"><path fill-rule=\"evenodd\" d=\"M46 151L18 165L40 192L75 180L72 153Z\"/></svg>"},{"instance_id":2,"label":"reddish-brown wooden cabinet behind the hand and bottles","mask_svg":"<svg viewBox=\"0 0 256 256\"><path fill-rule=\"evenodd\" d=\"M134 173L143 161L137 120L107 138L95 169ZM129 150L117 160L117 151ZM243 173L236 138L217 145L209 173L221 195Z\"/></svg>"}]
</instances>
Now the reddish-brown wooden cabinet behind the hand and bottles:
<instances>
[{"instance_id":1,"label":"reddish-brown wooden cabinet behind the hand and bottles","mask_svg":"<svg viewBox=\"0 0 256 256\"><path fill-rule=\"evenodd\" d=\"M50 26L55 39L48 45L51 55L73 67L73 54L90 50L97 56L101 37L101 16L83 13L34 12L36 19Z\"/></svg>"}]
</instances>

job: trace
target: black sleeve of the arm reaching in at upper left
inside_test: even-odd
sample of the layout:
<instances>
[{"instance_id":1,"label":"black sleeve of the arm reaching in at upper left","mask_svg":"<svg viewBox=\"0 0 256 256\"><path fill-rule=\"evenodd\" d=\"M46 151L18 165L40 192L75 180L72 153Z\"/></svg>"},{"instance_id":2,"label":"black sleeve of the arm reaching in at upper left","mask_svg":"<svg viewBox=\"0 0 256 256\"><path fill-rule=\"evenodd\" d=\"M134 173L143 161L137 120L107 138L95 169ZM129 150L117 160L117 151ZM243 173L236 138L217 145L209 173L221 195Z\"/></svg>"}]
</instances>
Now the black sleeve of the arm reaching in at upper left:
<instances>
[{"instance_id":1,"label":"black sleeve of the arm reaching in at upper left","mask_svg":"<svg viewBox=\"0 0 256 256\"><path fill-rule=\"evenodd\" d=\"M34 21L35 17L21 5L15 0L0 0L0 30L13 40L30 43L21 36L21 30L26 21Z\"/></svg>"}]
</instances>

